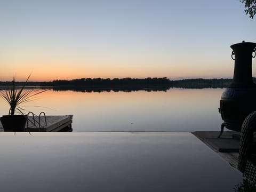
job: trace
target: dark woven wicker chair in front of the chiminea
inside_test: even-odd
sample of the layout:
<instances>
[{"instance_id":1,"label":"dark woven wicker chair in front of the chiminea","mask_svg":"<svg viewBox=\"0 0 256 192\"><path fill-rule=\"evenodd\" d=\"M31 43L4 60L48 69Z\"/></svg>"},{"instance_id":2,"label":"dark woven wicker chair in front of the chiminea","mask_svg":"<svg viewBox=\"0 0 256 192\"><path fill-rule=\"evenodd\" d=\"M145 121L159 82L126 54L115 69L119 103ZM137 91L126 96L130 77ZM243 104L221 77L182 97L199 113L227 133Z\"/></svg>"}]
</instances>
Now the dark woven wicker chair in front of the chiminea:
<instances>
[{"instance_id":1,"label":"dark woven wicker chair in front of the chiminea","mask_svg":"<svg viewBox=\"0 0 256 192\"><path fill-rule=\"evenodd\" d=\"M256 132L256 111L247 116L243 122L238 157L238 170L256 184L256 151L253 134Z\"/></svg>"}]
</instances>

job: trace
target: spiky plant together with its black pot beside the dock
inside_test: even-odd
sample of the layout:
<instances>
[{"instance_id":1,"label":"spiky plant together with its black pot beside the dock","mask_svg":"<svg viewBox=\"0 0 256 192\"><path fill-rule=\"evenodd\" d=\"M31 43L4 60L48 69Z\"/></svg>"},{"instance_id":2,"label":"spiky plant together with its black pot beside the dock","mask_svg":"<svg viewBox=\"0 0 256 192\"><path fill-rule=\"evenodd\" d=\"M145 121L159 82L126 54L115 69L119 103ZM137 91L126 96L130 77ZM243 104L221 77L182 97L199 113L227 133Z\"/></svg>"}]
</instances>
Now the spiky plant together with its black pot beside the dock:
<instances>
[{"instance_id":1,"label":"spiky plant together with its black pot beside the dock","mask_svg":"<svg viewBox=\"0 0 256 192\"><path fill-rule=\"evenodd\" d=\"M30 74L31 75L31 74ZM30 77L28 76L25 84ZM25 90L25 85L19 87L13 77L12 86L7 87L6 90L0 90L0 97L3 98L10 106L9 115L0 117L4 131L25 131L28 116L22 113L22 104L36 99L36 95L46 90ZM16 115L19 113L20 115Z\"/></svg>"}]
</instances>

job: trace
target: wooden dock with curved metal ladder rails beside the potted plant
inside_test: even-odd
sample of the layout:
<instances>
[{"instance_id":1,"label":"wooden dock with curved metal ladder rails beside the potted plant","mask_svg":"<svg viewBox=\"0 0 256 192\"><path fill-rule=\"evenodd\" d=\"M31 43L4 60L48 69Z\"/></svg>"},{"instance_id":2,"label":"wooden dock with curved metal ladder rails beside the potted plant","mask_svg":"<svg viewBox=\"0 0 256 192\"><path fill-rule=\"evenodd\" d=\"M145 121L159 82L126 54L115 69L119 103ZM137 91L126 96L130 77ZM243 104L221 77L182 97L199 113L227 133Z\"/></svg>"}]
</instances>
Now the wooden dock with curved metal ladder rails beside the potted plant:
<instances>
[{"instance_id":1,"label":"wooden dock with curved metal ladder rails beside the potted plant","mask_svg":"<svg viewBox=\"0 0 256 192\"><path fill-rule=\"evenodd\" d=\"M29 132L72 132L73 115L63 116L28 116L25 131ZM0 129L3 125L0 122Z\"/></svg>"}]
</instances>

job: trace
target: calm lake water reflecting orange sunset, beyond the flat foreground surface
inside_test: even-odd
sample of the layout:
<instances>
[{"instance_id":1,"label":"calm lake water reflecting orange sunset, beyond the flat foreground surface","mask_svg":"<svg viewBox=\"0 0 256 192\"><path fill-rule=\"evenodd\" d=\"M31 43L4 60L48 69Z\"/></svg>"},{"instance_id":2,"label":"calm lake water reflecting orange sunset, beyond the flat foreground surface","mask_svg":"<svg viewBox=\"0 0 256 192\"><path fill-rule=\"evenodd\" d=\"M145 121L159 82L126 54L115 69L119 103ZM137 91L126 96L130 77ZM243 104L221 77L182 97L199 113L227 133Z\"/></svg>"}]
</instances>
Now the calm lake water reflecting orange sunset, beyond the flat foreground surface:
<instances>
[{"instance_id":1,"label":"calm lake water reflecting orange sunset, beyond the flat foreground surface","mask_svg":"<svg viewBox=\"0 0 256 192\"><path fill-rule=\"evenodd\" d=\"M166 92L74 92L49 90L25 107L39 114L74 115L73 131L219 131L223 89ZM0 100L1 115L8 106Z\"/></svg>"}]
</instances>

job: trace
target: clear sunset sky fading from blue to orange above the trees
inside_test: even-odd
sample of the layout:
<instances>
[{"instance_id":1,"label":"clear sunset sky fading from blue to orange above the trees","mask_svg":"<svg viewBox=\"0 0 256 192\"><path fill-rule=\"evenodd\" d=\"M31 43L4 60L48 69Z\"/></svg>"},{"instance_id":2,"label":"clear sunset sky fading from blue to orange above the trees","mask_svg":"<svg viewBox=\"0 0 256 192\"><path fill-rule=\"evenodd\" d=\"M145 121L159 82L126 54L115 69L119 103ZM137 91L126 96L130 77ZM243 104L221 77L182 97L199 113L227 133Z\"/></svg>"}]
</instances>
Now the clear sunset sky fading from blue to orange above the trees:
<instances>
[{"instance_id":1,"label":"clear sunset sky fading from blue to orange above the trees","mask_svg":"<svg viewBox=\"0 0 256 192\"><path fill-rule=\"evenodd\" d=\"M0 27L0 81L232 78L256 42L239 0L0 0Z\"/></svg>"}]
</instances>

